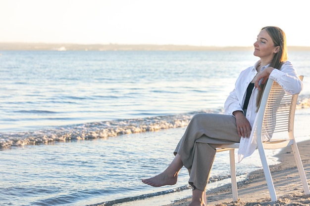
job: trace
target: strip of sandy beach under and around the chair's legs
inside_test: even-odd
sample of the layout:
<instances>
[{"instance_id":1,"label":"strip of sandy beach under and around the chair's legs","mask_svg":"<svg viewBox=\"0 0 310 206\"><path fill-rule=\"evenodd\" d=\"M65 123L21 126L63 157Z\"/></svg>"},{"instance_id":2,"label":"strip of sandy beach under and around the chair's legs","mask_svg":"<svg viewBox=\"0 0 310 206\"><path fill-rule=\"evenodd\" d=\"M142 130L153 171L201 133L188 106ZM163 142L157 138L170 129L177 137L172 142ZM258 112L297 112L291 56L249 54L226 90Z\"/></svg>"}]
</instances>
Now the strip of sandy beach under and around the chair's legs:
<instances>
[{"instance_id":1,"label":"strip of sandy beach under and around the chair's legs","mask_svg":"<svg viewBox=\"0 0 310 206\"><path fill-rule=\"evenodd\" d=\"M310 140L299 142L308 184L310 183ZM277 157L281 164L270 166L278 200L271 202L262 169L252 172L238 182L238 202L232 202L230 184L207 191L207 206L309 206L310 195L305 195L291 148L283 149ZM167 206L187 206L191 199L176 201Z\"/></svg>"}]
</instances>

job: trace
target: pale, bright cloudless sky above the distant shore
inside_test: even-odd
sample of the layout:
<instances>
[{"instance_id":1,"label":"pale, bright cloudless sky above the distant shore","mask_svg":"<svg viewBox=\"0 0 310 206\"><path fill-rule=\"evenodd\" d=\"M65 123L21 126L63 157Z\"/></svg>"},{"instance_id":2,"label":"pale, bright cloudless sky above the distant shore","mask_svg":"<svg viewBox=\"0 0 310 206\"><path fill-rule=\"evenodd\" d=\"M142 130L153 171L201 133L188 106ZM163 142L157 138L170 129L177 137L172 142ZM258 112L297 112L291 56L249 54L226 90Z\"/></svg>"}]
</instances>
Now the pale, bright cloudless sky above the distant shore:
<instances>
[{"instance_id":1,"label":"pale, bright cloudless sky above the distant shore","mask_svg":"<svg viewBox=\"0 0 310 206\"><path fill-rule=\"evenodd\" d=\"M308 0L0 0L0 42L310 46Z\"/></svg>"}]
</instances>

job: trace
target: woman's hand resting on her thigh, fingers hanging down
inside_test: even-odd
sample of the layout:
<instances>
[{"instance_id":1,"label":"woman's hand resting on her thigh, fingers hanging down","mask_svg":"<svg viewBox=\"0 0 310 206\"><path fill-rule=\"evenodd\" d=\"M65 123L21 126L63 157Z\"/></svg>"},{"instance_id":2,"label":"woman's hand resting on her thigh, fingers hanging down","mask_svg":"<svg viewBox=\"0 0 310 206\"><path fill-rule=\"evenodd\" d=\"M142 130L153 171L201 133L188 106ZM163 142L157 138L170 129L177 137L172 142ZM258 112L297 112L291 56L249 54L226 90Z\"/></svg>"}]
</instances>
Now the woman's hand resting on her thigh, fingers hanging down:
<instances>
[{"instance_id":1,"label":"woman's hand resting on her thigh, fingers hanging down","mask_svg":"<svg viewBox=\"0 0 310 206\"><path fill-rule=\"evenodd\" d=\"M250 137L251 135L251 124L244 116L242 111L235 111L233 115L236 118L237 131L240 137Z\"/></svg>"}]
</instances>

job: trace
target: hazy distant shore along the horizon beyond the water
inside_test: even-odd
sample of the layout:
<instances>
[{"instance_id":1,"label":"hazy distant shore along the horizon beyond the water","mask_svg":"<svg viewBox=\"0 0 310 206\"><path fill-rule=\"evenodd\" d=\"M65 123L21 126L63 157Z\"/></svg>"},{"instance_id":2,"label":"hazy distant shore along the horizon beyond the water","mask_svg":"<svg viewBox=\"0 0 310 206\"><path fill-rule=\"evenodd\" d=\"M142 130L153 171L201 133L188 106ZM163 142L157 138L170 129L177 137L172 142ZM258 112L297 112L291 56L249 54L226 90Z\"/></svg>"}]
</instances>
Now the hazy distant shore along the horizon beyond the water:
<instances>
[{"instance_id":1,"label":"hazy distant shore along the horizon beyond the water","mask_svg":"<svg viewBox=\"0 0 310 206\"><path fill-rule=\"evenodd\" d=\"M55 50L55 51L252 51L253 46L193 46L156 44L73 44L73 43L24 43L0 42L5 50ZM310 51L310 46L288 46L289 51Z\"/></svg>"}]
</instances>

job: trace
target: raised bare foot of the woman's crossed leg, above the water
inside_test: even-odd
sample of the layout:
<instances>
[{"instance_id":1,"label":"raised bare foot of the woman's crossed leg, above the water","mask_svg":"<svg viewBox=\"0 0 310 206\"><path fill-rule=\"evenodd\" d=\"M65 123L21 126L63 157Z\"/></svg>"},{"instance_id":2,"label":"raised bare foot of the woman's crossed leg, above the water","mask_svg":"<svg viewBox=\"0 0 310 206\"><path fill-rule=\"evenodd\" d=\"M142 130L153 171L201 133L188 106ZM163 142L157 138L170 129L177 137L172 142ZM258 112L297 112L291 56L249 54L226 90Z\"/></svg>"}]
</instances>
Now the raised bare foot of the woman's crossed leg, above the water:
<instances>
[{"instance_id":1,"label":"raised bare foot of the woman's crossed leg, above the water","mask_svg":"<svg viewBox=\"0 0 310 206\"><path fill-rule=\"evenodd\" d=\"M164 185L174 185L178 180L177 173L175 175L168 175L162 172L155 177L143 179L142 182L153 187L161 187Z\"/></svg>"}]
</instances>

